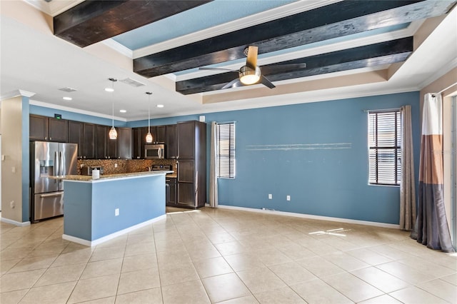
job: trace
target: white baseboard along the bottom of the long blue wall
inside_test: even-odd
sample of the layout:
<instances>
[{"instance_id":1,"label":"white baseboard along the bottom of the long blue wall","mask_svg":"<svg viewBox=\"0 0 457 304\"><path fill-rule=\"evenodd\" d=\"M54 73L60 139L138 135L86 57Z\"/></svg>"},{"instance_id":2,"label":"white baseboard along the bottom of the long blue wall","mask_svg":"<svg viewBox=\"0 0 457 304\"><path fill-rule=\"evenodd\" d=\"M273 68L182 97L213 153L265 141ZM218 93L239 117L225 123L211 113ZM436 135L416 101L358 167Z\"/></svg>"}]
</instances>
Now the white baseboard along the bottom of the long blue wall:
<instances>
[{"instance_id":1,"label":"white baseboard along the bottom of the long blue wall","mask_svg":"<svg viewBox=\"0 0 457 304\"><path fill-rule=\"evenodd\" d=\"M313 219L313 220L321 220L321 221L331 221L331 222L338 222L338 223L351 223L351 224L365 225L365 226L376 226L376 227L382 227L382 228L400 229L400 225L396 225L396 224L378 223L378 222L370 222L370 221L358 221L358 220L351 220L349 218L332 218L330 216L313 216L311 214L304 214L304 213L293 213L293 212L276 211L276 210L263 210L263 209L246 208L246 207L238 207L238 206L228 206L228 205L219 205L218 207L219 208L224 208L224 209L233 209L233 210L241 210L241 211L273 214L275 216L293 216L293 217L296 217L296 218L310 218L310 219Z\"/></svg>"}]
</instances>

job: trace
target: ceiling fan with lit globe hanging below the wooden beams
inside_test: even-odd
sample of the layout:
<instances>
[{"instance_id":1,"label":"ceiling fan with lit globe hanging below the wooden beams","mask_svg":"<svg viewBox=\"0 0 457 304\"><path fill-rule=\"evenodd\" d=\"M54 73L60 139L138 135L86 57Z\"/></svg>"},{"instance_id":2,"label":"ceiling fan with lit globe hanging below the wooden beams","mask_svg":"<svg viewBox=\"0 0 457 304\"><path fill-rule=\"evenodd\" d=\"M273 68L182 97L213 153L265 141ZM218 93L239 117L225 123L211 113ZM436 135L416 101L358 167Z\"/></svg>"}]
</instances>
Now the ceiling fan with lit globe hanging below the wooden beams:
<instances>
[{"instance_id":1,"label":"ceiling fan with lit globe hanging below the wooden beams","mask_svg":"<svg viewBox=\"0 0 457 304\"><path fill-rule=\"evenodd\" d=\"M248 46L246 49L244 49L244 54L246 55L246 64L244 66L241 66L239 70L206 67L201 67L199 69L208 71L230 71L238 75L238 78L233 79L222 88L251 86L257 83L262 83L264 86L267 86L268 88L276 88L276 86L273 83L271 83L271 81L269 81L268 78L261 74L261 70L257 66L258 46ZM283 66L288 66L288 69L284 69ZM269 70L279 68L283 71L290 71L292 66L298 69L306 68L306 64L280 64L271 66Z\"/></svg>"}]
</instances>

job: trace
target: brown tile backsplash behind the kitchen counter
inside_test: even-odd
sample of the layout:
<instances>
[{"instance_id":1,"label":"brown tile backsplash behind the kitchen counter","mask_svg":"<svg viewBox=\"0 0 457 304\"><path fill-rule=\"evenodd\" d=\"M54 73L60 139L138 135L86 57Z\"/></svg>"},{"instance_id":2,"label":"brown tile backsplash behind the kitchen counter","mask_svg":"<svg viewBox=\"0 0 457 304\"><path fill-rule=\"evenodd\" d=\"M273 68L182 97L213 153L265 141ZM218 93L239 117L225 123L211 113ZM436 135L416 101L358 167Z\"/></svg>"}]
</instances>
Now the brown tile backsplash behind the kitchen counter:
<instances>
[{"instance_id":1,"label":"brown tile backsplash behind the kitchen counter","mask_svg":"<svg viewBox=\"0 0 457 304\"><path fill-rule=\"evenodd\" d=\"M132 173L148 171L152 165L172 165L176 173L176 160L174 159L79 159L78 174L84 166L102 166L104 174Z\"/></svg>"}]
</instances>

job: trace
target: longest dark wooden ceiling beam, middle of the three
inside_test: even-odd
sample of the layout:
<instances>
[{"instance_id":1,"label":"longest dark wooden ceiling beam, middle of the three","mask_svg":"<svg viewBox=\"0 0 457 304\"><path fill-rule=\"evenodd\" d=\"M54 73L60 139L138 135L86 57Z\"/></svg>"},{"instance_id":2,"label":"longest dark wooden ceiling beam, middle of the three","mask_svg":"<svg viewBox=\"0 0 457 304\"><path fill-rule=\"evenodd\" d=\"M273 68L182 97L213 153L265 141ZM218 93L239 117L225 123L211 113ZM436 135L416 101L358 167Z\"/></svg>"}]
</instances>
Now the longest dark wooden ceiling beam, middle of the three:
<instances>
[{"instance_id":1,"label":"longest dark wooden ceiling beam, middle of the three","mask_svg":"<svg viewBox=\"0 0 457 304\"><path fill-rule=\"evenodd\" d=\"M450 1L340 1L246 29L134 59L134 72L145 77L244 58L246 46L264 54L317 41L404 24L446 14Z\"/></svg>"}]
</instances>

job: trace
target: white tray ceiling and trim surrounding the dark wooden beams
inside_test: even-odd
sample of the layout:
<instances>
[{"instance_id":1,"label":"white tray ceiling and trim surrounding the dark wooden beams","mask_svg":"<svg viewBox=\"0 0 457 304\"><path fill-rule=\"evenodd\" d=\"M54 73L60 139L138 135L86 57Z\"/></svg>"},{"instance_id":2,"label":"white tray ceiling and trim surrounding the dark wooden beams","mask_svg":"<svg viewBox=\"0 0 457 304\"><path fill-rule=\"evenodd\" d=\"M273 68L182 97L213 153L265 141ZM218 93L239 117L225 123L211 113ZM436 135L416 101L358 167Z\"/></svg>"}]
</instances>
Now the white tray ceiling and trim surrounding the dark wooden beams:
<instances>
[{"instance_id":1,"label":"white tray ceiling and trim surrounding the dark wooden beams","mask_svg":"<svg viewBox=\"0 0 457 304\"><path fill-rule=\"evenodd\" d=\"M6 3L9 2L9 3ZM41 11L51 16L78 4L81 1L29 1L39 6ZM207 71L190 71L185 74L169 74L155 78L144 78L134 74L131 59L151 54L152 50L179 45L180 41L198 41L201 37L220 34L221 28L231 29L246 26L254 21L264 22L272 16L291 14L306 10L316 5L334 1L297 1L268 11L257 12L248 19L242 18L229 21L229 24L216 25L185 36L162 39L153 46L130 50L121 46L114 39L99 42L84 49L69 44L54 36L49 26L44 23L45 15L34 6L24 1L0 1L0 97L11 96L17 90L34 93L32 104L61 108L79 113L88 113L111 118L111 103L114 101L115 116L123 121L147 119L148 98L146 91L152 91L152 104L164 104L164 108L153 108L152 118L179 116L193 113L209 113L228 111L240 108L256 108L261 106L277 106L281 104L323 101L356 96L378 95L402 91L418 91L436 78L446 74L457 66L457 14L456 9L448 14L414 51L408 60L396 71L388 81L332 88L331 83L338 76L356 76L371 70L325 74L275 82L277 88L269 90L261 85L228 90L214 91L203 94L183 96L174 91L174 81L196 75L208 75ZM18 11L19 10L19 11ZM25 13L28 14L25 14ZM224 12L222 11L221 14ZM236 14L233 14L234 16ZM381 33L374 36L359 37L351 41L338 41L333 44L316 46L302 50L294 50L287 54L259 59L259 64L268 64L281 59L290 59L305 54L322 53L333 49L341 49L345 44L368 44L382 36L411 36L421 22L415 22L407 29ZM119 40L119 39L118 39ZM238 69L239 64L228 63L224 67ZM386 66L376 69L387 69ZM126 83L116 82L115 93L106 93L104 88L111 86L109 77L119 80L133 78L146 86L133 87ZM296 86L303 88L297 91ZM76 91L65 93L59 88L71 87ZM234 93L232 93L234 92ZM62 100L63 96L71 96L72 101ZM216 102L222 101L222 102ZM123 108L127 112L119 113Z\"/></svg>"}]
</instances>

